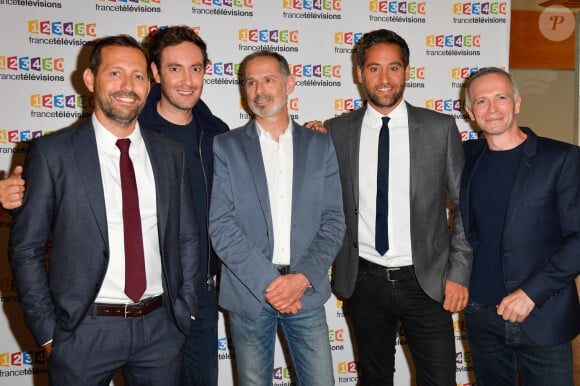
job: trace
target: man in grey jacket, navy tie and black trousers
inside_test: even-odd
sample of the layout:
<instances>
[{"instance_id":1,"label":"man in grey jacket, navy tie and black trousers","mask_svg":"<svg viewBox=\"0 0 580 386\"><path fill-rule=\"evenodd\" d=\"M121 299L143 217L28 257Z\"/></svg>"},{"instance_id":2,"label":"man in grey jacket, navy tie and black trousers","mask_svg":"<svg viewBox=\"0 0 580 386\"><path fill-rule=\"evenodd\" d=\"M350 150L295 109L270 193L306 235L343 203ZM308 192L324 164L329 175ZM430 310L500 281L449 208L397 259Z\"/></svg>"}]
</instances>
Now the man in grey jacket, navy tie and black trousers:
<instances>
[{"instance_id":1,"label":"man in grey jacket, navy tie and black trousers","mask_svg":"<svg viewBox=\"0 0 580 386\"><path fill-rule=\"evenodd\" d=\"M458 208L463 150L457 126L450 116L403 102L409 48L399 35L371 31L355 52L368 102L326 127L347 225L334 282L348 299L360 382L393 384L400 321L417 385L455 385L451 313L467 303L472 258Z\"/></svg>"}]
</instances>

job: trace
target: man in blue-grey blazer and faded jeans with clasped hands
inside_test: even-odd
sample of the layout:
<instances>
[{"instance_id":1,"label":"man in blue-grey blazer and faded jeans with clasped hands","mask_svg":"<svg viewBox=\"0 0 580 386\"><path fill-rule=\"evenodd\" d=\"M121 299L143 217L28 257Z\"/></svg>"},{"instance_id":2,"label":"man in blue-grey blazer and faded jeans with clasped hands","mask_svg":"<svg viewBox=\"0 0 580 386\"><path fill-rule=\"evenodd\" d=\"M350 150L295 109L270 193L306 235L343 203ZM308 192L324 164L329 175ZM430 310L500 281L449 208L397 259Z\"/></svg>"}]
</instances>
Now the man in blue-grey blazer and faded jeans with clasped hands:
<instances>
[{"instance_id":1,"label":"man in blue-grey blazer and faded jeans with clasped hands","mask_svg":"<svg viewBox=\"0 0 580 386\"><path fill-rule=\"evenodd\" d=\"M241 68L255 120L214 140L209 218L238 381L272 384L280 325L297 384L328 386L324 303L345 229L336 154L328 136L290 120L295 79L284 57L257 52Z\"/></svg>"}]
</instances>

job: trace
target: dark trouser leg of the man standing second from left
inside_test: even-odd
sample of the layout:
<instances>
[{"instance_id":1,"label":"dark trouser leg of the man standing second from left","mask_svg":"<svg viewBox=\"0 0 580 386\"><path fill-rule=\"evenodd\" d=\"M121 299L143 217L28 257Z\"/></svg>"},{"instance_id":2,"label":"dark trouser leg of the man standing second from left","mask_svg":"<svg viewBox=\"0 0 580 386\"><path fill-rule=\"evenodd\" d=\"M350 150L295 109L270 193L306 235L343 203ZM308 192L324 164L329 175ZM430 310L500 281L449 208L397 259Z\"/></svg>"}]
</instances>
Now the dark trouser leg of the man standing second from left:
<instances>
[{"instance_id":1,"label":"dark trouser leg of the man standing second from left","mask_svg":"<svg viewBox=\"0 0 580 386\"><path fill-rule=\"evenodd\" d=\"M197 292L198 308L185 340L181 386L217 386L218 310L215 289Z\"/></svg>"}]
</instances>

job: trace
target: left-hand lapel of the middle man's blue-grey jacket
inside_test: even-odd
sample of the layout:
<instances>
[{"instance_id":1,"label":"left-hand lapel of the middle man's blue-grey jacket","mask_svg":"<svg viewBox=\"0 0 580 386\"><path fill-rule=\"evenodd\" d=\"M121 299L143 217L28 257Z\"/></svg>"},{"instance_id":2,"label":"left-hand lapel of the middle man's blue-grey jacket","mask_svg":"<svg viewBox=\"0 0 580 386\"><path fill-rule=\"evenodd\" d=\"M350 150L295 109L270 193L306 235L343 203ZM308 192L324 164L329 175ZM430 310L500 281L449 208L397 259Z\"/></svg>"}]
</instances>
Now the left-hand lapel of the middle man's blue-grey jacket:
<instances>
[{"instance_id":1,"label":"left-hand lapel of the middle man's blue-grey jacket","mask_svg":"<svg viewBox=\"0 0 580 386\"><path fill-rule=\"evenodd\" d=\"M262 149L260 148L260 139L258 137L258 127L256 126L256 122L253 121L243 130L246 131L246 135L242 137L243 146L248 165L250 166L252 180L254 181L254 188L258 194L258 200L260 201L260 208L262 209L264 219L268 224L268 232L271 237L273 237L274 227L272 225L272 212L270 209L270 198L268 196L268 181L266 180L266 170L264 169ZM270 247L273 247L272 241L270 241Z\"/></svg>"}]
</instances>

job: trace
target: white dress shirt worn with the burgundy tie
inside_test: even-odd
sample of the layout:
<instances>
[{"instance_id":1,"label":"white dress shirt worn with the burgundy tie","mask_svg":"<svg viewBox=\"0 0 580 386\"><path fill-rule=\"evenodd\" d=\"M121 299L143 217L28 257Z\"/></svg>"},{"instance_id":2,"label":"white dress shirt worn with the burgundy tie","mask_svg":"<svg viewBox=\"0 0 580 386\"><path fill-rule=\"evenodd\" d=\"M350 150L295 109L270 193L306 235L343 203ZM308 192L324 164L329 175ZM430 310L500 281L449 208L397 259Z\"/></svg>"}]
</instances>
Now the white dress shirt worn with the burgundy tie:
<instances>
[{"instance_id":1,"label":"white dress shirt worn with the burgundy tie","mask_svg":"<svg viewBox=\"0 0 580 386\"><path fill-rule=\"evenodd\" d=\"M94 114L92 120L97 139L99 165L105 194L109 237L109 265L95 302L132 303L133 301L125 294L123 196L119 169L121 152L116 145L119 138L105 129ZM146 299L163 293L161 254L159 250L159 235L157 233L155 178L138 123L133 133L127 138L131 140L129 156L135 169L139 195L139 212L141 213L143 250L145 252L145 274L147 276L147 288L142 299Z\"/></svg>"}]
</instances>

